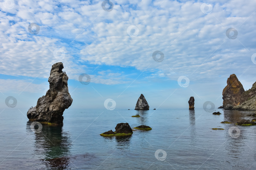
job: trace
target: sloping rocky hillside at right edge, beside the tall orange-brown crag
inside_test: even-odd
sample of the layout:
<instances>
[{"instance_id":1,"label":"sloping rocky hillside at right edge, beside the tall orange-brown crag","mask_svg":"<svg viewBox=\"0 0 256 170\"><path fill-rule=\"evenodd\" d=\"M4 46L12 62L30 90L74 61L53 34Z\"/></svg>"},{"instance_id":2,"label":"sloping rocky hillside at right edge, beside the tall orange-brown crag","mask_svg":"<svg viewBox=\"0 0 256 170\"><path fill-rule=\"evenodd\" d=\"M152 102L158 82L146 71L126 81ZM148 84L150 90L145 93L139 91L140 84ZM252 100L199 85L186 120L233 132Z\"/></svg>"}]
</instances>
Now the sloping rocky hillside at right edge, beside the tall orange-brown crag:
<instances>
[{"instance_id":1,"label":"sloping rocky hillside at right edge, beside the tall orange-brown crag","mask_svg":"<svg viewBox=\"0 0 256 170\"><path fill-rule=\"evenodd\" d=\"M235 106L233 110L256 110L256 82L241 95L240 105Z\"/></svg>"}]
</instances>

